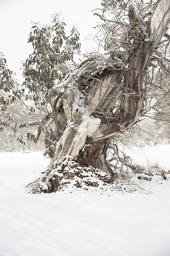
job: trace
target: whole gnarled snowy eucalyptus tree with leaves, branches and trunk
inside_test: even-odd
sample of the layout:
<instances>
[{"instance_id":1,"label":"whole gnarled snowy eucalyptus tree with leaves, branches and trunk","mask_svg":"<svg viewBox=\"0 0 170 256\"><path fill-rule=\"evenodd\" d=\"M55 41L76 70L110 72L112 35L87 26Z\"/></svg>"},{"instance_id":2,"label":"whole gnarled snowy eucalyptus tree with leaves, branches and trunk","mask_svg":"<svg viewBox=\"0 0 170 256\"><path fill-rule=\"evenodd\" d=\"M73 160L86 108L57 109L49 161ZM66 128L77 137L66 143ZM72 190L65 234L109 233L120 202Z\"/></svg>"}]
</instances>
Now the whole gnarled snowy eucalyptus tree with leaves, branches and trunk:
<instances>
[{"instance_id":1,"label":"whole gnarled snowy eucalyptus tree with leaves, branches and trunk","mask_svg":"<svg viewBox=\"0 0 170 256\"><path fill-rule=\"evenodd\" d=\"M106 172L104 182L111 183L117 174L106 159L108 148L118 162L133 169L119 156L114 140L152 107L154 69L160 66L168 73L169 0L103 0L100 11L94 14L103 22L97 38L105 51L88 54L80 65L73 61L73 53L79 52L78 32L73 28L65 36L58 16L53 26L34 24L30 34L34 51L24 63L24 85L27 98L35 101L30 113L36 120L22 126L37 125L38 135L45 133L45 150L51 156L47 172L31 185L34 193L57 191L71 180L81 187L80 179L89 170ZM36 108L46 113L42 119ZM98 176L103 179L103 174ZM88 185L98 186L96 181Z\"/></svg>"}]
</instances>

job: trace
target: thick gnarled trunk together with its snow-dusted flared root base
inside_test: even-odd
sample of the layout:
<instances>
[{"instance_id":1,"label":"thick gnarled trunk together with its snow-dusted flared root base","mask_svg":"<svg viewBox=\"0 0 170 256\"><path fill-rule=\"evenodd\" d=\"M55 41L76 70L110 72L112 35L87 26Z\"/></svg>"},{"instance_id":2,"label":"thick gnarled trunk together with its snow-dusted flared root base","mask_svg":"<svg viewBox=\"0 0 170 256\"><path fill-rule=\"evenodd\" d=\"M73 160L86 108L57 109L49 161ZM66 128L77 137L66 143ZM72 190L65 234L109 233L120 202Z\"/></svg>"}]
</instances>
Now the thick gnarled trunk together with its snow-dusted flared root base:
<instances>
[{"instance_id":1,"label":"thick gnarled trunk together with its snow-dusted flared root base","mask_svg":"<svg viewBox=\"0 0 170 256\"><path fill-rule=\"evenodd\" d=\"M117 174L106 159L106 145L142 114L144 78L169 25L169 7L169 1L158 1L152 15L142 20L130 5L133 51L91 54L52 88L54 93L64 88L57 110L62 128L54 157L43 176L31 184L32 193L114 183Z\"/></svg>"}]
</instances>

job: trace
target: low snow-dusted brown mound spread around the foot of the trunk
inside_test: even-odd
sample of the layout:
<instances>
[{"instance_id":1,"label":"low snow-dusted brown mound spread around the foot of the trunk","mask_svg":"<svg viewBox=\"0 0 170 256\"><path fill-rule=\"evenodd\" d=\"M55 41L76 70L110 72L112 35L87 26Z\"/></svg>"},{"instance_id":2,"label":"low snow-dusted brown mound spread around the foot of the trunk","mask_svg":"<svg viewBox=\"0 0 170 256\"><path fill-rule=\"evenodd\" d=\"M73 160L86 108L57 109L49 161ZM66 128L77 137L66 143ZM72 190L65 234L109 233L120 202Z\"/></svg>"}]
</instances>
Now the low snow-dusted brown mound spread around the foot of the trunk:
<instances>
[{"instance_id":1,"label":"low snow-dusted brown mound spread around the foot of the trunk","mask_svg":"<svg viewBox=\"0 0 170 256\"><path fill-rule=\"evenodd\" d=\"M39 180L32 183L28 193L39 194L51 192L74 192L78 190L99 192L100 194L114 194L116 192L131 193L144 189L128 179L115 179L100 169L92 166L81 167L74 161L46 172Z\"/></svg>"}]
</instances>

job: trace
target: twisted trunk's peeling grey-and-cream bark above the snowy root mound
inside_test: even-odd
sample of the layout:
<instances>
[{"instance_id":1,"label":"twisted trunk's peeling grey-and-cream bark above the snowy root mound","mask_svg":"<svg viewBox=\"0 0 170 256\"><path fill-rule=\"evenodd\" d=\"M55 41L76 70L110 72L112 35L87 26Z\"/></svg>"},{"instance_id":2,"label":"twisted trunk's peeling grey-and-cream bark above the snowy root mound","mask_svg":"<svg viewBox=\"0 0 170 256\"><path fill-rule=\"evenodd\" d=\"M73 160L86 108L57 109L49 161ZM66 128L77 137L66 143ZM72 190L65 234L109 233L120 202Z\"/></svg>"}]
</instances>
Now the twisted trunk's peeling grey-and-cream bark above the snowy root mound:
<instances>
[{"instance_id":1,"label":"twisted trunk's peeling grey-and-cream bark above the snowy root mound","mask_svg":"<svg viewBox=\"0 0 170 256\"><path fill-rule=\"evenodd\" d=\"M153 13L154 23L151 23L151 18L141 21L134 8L129 6L134 51L129 54L129 59L125 60L124 67L115 65L114 56L111 54L108 59L111 68L104 69L98 74L92 84L87 85L86 92L80 85L81 71L87 63L83 63L81 68L77 68L67 78L63 94L63 109L67 124L57 142L55 156L41 178L48 189L41 191L57 190L59 178L56 177L60 175L56 176L54 173L63 172L70 161L82 167L92 166L101 169L112 178L116 177L106 159L106 145L112 138L132 126L141 116L146 70L154 49L170 23L170 1L163 0L161 3L162 1L158 1Z\"/></svg>"}]
</instances>

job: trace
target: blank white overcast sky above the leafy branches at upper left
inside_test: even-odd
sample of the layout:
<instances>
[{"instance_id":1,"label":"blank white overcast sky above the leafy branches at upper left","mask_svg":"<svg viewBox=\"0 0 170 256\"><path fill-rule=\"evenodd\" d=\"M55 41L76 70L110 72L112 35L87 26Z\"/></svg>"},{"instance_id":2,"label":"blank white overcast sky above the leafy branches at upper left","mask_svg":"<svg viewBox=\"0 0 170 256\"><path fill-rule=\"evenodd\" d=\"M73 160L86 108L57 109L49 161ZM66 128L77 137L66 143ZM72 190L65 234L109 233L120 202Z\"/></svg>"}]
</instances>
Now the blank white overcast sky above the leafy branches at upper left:
<instances>
[{"instance_id":1,"label":"blank white overcast sky above the leafy branches at upper left","mask_svg":"<svg viewBox=\"0 0 170 256\"><path fill-rule=\"evenodd\" d=\"M94 41L85 40L93 33L98 17L93 9L100 8L101 0L0 0L0 52L6 55L8 67L21 78L21 60L26 60L32 51L27 36L33 26L31 21L49 23L51 14L62 11L67 29L74 24L80 32L81 52L97 48Z\"/></svg>"}]
</instances>

